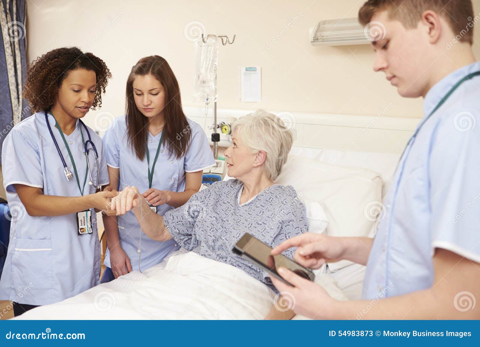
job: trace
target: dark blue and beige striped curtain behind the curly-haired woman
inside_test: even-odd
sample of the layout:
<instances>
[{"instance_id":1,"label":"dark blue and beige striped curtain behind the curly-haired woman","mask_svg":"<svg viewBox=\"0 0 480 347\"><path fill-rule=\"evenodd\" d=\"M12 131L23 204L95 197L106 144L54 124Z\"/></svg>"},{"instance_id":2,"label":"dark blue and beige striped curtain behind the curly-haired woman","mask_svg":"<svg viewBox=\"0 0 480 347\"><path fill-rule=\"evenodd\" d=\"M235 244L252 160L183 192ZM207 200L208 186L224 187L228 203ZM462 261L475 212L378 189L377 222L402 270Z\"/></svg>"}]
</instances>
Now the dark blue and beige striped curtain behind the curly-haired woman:
<instances>
[{"instance_id":1,"label":"dark blue and beige striped curtain behind the curly-haired woman","mask_svg":"<svg viewBox=\"0 0 480 347\"><path fill-rule=\"evenodd\" d=\"M31 115L22 97L27 67L25 17L25 0L0 0L0 148L12 127Z\"/></svg>"}]
</instances>

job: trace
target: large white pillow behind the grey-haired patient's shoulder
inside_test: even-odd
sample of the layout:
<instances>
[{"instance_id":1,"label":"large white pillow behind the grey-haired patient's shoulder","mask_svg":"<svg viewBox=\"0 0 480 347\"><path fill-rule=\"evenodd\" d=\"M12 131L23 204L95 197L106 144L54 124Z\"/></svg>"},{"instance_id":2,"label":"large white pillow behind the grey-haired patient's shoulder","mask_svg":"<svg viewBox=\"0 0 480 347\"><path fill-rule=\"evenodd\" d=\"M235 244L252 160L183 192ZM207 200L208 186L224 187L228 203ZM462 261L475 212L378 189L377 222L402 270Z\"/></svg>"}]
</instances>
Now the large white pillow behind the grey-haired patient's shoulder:
<instances>
[{"instance_id":1,"label":"large white pillow behind the grey-haired patient's shoulder","mask_svg":"<svg viewBox=\"0 0 480 347\"><path fill-rule=\"evenodd\" d=\"M276 183L290 184L300 199L319 203L329 222L326 228L329 236L368 236L375 222L370 206L381 205L382 201L380 174L301 156L288 157ZM329 263L328 266L336 271L348 264L351 262Z\"/></svg>"}]
</instances>

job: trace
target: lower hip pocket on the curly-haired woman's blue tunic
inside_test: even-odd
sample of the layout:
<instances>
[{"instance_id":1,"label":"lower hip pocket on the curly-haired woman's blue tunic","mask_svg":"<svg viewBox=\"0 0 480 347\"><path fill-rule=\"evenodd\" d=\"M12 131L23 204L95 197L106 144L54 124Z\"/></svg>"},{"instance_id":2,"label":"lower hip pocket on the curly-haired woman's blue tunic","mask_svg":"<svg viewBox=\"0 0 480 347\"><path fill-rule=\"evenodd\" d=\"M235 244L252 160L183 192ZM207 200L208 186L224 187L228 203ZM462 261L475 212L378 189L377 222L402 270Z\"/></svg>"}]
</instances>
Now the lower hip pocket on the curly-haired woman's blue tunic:
<instances>
[{"instance_id":1,"label":"lower hip pocket on the curly-haired woman's blue tunic","mask_svg":"<svg viewBox=\"0 0 480 347\"><path fill-rule=\"evenodd\" d=\"M16 239L12 257L13 285L18 289L52 287L51 239Z\"/></svg>"}]
</instances>

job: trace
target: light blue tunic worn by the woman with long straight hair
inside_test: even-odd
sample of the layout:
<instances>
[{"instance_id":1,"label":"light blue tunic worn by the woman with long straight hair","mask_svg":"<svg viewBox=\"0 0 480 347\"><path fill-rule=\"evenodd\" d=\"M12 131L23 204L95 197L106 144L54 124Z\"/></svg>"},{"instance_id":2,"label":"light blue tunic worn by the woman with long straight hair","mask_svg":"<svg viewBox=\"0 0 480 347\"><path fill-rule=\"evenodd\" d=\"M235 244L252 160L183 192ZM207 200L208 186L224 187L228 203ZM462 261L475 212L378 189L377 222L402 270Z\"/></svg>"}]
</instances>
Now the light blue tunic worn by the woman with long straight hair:
<instances>
[{"instance_id":1,"label":"light blue tunic worn by the woman with long straight hair","mask_svg":"<svg viewBox=\"0 0 480 347\"><path fill-rule=\"evenodd\" d=\"M188 122L192 130L192 138L186 155L178 159L175 156L169 156L165 148L167 139L164 139L155 166L152 188L166 191L184 191L186 172L201 171L215 165L215 159L204 130L198 123L192 120L188 120ZM147 145L150 154L150 166L155 158L161 134L160 132L153 136L148 133ZM107 155L107 165L112 168L120 168L119 190L123 190L125 186L135 186L141 193L145 192L148 189L146 156L144 160L139 160L132 151L132 147L127 144L125 116L116 118L115 123L103 136L103 144ZM160 205L157 207L157 213L164 215L171 209L173 207L170 205ZM173 239L163 242L155 241L143 232L141 233L138 221L132 211L118 216L118 228L120 245L129 256L133 270L138 270L139 254L137 250L140 246L140 235L142 237L141 270L161 263L170 252L180 249L180 245ZM108 250L104 264L111 267Z\"/></svg>"}]
</instances>

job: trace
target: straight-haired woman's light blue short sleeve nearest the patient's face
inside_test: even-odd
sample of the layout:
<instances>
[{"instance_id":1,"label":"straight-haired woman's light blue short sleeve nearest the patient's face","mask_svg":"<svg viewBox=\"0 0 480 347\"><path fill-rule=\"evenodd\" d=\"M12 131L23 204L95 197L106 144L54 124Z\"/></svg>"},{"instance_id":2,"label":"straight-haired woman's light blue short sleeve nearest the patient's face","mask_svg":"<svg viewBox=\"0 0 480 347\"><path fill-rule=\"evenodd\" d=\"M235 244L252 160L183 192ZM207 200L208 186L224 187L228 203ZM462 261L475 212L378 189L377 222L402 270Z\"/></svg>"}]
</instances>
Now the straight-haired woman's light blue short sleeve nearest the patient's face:
<instances>
[{"instance_id":1,"label":"straight-haired woman's light blue short sleeve nearest the patient's face","mask_svg":"<svg viewBox=\"0 0 480 347\"><path fill-rule=\"evenodd\" d=\"M215 165L215 158L205 132L198 123L191 122L192 140L183 161L185 172L196 172Z\"/></svg>"}]
</instances>

